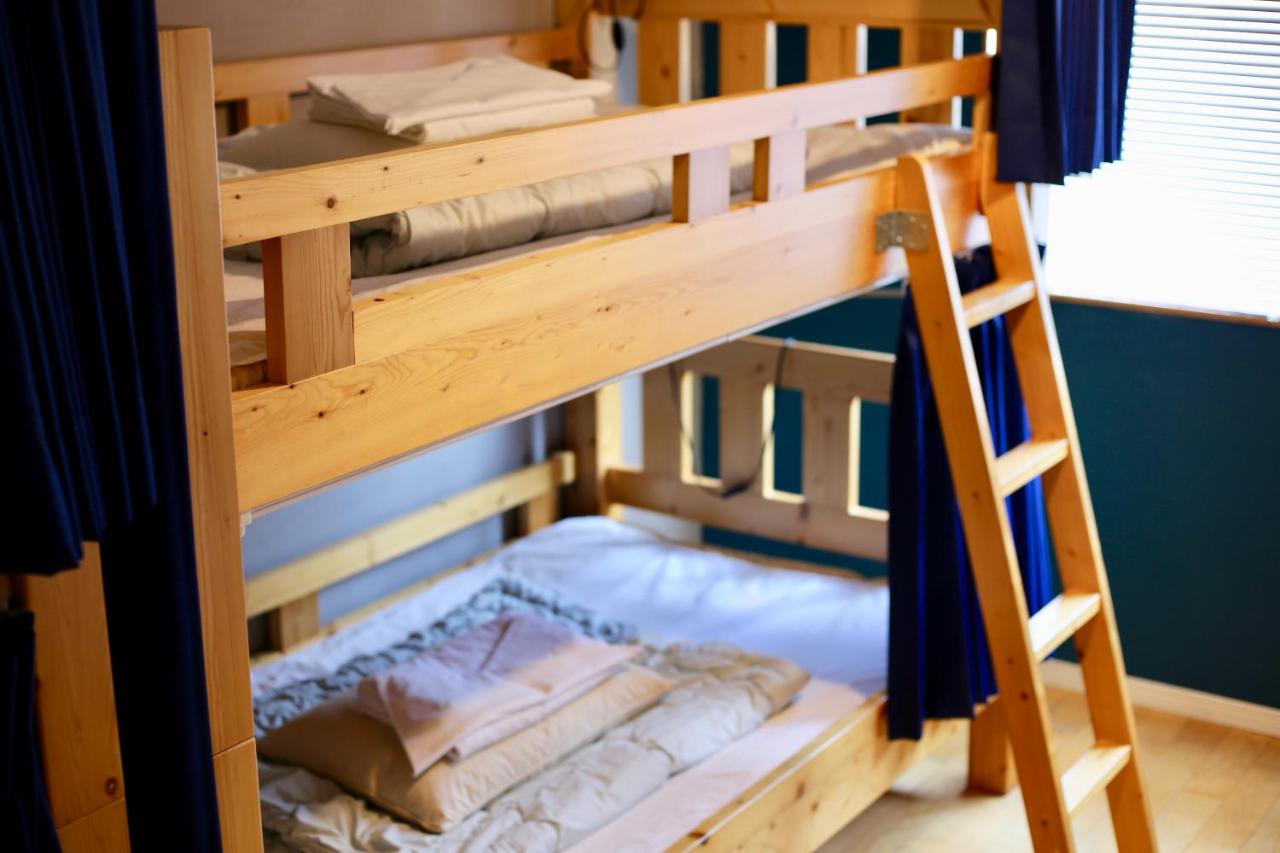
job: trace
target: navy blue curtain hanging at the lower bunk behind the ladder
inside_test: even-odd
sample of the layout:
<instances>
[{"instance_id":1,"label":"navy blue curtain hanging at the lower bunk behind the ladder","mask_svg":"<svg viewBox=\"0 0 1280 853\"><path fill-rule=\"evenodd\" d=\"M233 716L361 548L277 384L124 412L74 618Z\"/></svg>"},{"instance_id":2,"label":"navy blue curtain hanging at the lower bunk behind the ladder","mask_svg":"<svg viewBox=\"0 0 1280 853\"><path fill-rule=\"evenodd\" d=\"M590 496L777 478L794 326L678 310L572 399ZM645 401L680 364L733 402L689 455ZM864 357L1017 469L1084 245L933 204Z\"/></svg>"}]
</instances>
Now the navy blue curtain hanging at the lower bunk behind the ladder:
<instances>
[{"instance_id":1,"label":"navy blue curtain hanging at the lower bunk behind the ladder","mask_svg":"<svg viewBox=\"0 0 1280 853\"><path fill-rule=\"evenodd\" d=\"M996 280L991 250L956 259L960 289ZM1030 435L1004 318L973 330L996 452ZM902 300L890 407L888 734L919 739L925 719L972 717L997 692L965 549L937 402L910 298ZM1033 611L1052 597L1037 479L1007 501Z\"/></svg>"}]
</instances>

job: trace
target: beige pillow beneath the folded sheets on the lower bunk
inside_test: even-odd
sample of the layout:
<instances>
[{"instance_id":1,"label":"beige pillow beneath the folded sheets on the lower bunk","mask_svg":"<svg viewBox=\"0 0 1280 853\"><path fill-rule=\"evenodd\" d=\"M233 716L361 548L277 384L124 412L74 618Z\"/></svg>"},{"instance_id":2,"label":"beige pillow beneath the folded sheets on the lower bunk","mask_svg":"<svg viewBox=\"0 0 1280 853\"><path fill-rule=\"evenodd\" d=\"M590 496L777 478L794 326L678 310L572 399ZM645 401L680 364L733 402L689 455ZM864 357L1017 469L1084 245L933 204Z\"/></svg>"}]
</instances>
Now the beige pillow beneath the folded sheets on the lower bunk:
<instances>
[{"instance_id":1,"label":"beige pillow beneath the folded sheets on the lower bunk","mask_svg":"<svg viewBox=\"0 0 1280 853\"><path fill-rule=\"evenodd\" d=\"M328 776L404 821L443 833L653 704L672 685L652 670L628 666L541 722L463 761L438 762L417 779L394 730L361 713L349 692L270 733L259 752Z\"/></svg>"}]
</instances>

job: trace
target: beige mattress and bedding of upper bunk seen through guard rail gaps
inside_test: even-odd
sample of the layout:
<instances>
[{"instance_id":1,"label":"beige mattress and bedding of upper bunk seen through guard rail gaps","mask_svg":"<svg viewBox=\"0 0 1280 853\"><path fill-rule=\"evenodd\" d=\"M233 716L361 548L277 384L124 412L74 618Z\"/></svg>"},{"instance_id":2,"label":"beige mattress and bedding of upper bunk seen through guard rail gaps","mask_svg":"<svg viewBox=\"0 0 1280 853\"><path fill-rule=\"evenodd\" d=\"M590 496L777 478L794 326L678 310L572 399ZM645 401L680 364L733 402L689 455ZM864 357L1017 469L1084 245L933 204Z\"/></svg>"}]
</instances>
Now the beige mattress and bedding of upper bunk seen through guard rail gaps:
<instances>
[{"instance_id":1,"label":"beige mattress and bedding of upper bunk seen through guard rail gaps","mask_svg":"<svg viewBox=\"0 0 1280 853\"><path fill-rule=\"evenodd\" d=\"M929 155L955 151L965 142L968 131L945 126L815 128L808 137L808 179L826 181L883 167L911 151ZM736 146L736 187L750 187L750 143ZM668 158L367 220L394 222L388 228L399 236L381 233L380 225L366 223L362 231L372 229L376 233L358 241L353 255L353 263L358 261L355 268L390 268L398 272L358 277L352 282L352 295L357 300L372 298L408 284L477 270L515 256L660 222L669 210L669 199ZM396 245L401 238L406 241L404 245ZM477 248L490 251L476 251ZM234 251L233 255L252 256L252 252ZM461 256L447 260L456 255ZM374 256L376 261L371 260ZM424 259L436 263L422 265ZM408 269L401 269L404 266ZM261 264L243 257L227 260L225 296L232 365L243 369L262 362L266 357L266 334Z\"/></svg>"}]
</instances>

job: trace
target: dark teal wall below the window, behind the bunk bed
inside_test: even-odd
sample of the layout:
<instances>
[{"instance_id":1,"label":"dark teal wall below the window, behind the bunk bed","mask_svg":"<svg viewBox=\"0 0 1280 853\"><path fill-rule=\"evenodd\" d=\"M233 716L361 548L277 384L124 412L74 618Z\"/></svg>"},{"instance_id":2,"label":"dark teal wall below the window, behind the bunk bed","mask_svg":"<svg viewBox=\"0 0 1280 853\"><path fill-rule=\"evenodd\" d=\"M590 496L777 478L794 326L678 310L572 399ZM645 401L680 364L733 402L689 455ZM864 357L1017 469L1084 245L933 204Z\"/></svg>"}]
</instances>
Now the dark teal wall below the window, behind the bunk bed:
<instances>
[{"instance_id":1,"label":"dark teal wall below the window, behind the bunk bed","mask_svg":"<svg viewBox=\"0 0 1280 853\"><path fill-rule=\"evenodd\" d=\"M773 333L892 350L900 307L864 297ZM1071 304L1053 314L1129 671L1280 707L1280 329ZM780 419L780 483L797 479L796 409ZM882 415L864 414L863 429L864 502L877 506Z\"/></svg>"}]
</instances>

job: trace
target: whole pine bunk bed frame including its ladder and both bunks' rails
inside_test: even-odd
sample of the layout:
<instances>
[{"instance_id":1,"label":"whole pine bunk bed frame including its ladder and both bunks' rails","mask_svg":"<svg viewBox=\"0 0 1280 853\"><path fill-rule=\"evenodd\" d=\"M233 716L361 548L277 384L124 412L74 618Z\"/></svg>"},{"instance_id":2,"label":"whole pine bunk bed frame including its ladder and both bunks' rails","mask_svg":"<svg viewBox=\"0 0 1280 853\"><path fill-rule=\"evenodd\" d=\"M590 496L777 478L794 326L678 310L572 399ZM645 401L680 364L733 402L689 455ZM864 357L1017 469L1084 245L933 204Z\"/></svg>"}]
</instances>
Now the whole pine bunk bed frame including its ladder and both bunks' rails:
<instances>
[{"instance_id":1,"label":"whole pine bunk bed frame including its ladder and both bunks' rails","mask_svg":"<svg viewBox=\"0 0 1280 853\"><path fill-rule=\"evenodd\" d=\"M778 346L744 336L908 272L965 496L965 529L1002 688L1002 698L973 725L972 777L1009 790L1011 744L1037 849L1071 849L1070 811L1102 788L1121 848L1155 849L1110 596L1021 190L993 182L989 136L960 154L904 158L895 168L805 186L808 128L892 111L937 117L954 97L974 97L975 126L986 127L991 59L951 58L950 33L996 26L988 4L906 5L649 0L640 19L640 91L645 101L669 106L221 184L215 101L230 104L238 123L253 124L287 118L289 93L321 70L407 68L500 51L580 67L576 4L562 4L573 10L566 12L566 27L545 33L219 67L207 31L160 33L201 617L227 849L262 844L248 616L265 615L274 643L297 647L321 634L323 588L507 510L518 510L522 529L531 532L562 506L567 514L634 506L883 558L887 515L858 505L850 478L858 459L850 407L858 400L887 402L890 357L812 346L790 352L785 384L805 392L804 494L762 480L727 501L691 469L668 365L677 374L722 379L723 405L735 412L723 433L722 482L733 482L759 453L772 398L764 368ZM677 104L687 19L721 22L722 97ZM824 82L755 91L771 82L774 20L809 24L817 58L810 70ZM902 27L904 59L913 64L859 74L855 33L865 24ZM732 205L727 146L741 141L755 142L754 199ZM668 156L675 160L669 222L352 301L348 228L357 219ZM1002 278L961 298L952 248L988 240ZM266 382L233 391L223 250L255 241L274 259L266 265ZM997 459L966 329L1006 313L1037 438ZM645 373L643 470L622 464L616 384L639 373ZM365 544L383 555L376 560L339 548L246 585L244 514L564 402L568 452L424 510L384 538L370 534L378 544ZM1066 592L1032 616L1002 497L1037 475L1046 476ZM1060 780L1037 665L1071 635L1100 745ZM684 827L677 847L815 848L961 725L931 722L919 743L888 742L883 702L873 698L712 818ZM92 762L56 767L50 785L93 789L101 772ZM109 786L102 808L101 794L90 797L97 798L96 811L84 812L72 838L108 839L101 847L114 849L110 839L122 838L123 820L116 788Z\"/></svg>"}]
</instances>

